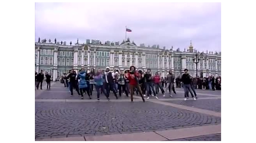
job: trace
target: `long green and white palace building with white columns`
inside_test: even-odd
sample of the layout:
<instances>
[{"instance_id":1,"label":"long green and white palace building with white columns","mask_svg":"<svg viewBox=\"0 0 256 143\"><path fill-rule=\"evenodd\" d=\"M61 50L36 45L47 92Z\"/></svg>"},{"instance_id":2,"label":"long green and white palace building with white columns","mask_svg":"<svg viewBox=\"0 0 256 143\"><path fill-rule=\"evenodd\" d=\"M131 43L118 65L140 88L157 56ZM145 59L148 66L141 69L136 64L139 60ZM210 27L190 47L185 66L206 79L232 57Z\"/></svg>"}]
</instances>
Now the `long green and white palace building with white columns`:
<instances>
[{"instance_id":1,"label":"long green and white palace building with white columns","mask_svg":"<svg viewBox=\"0 0 256 143\"><path fill-rule=\"evenodd\" d=\"M66 42L35 42L35 70L47 71L55 80L70 69L105 69L109 66L111 70L125 71L133 65L142 71L150 68L153 74L158 72L161 76L166 76L171 70L175 77L181 76L187 68L194 77L195 54L199 58L198 76L221 76L221 52L200 53L194 49L191 42L184 51L179 48L173 50L173 47L160 48L159 45L146 47L144 44L136 45L129 38L121 44L109 41L101 44L99 40L86 40L84 44L74 45L66 45Z\"/></svg>"}]
</instances>

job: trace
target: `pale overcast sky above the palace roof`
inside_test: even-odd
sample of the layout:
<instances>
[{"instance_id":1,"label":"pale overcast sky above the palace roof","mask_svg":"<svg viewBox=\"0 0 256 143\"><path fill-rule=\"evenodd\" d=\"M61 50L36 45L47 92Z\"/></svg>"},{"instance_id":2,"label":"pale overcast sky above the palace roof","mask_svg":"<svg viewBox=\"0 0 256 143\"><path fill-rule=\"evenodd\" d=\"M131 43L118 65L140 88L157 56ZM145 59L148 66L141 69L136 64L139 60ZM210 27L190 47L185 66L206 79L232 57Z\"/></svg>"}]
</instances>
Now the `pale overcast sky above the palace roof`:
<instances>
[{"instance_id":1,"label":"pale overcast sky above the palace roof","mask_svg":"<svg viewBox=\"0 0 256 143\"><path fill-rule=\"evenodd\" d=\"M35 42L121 43L126 26L137 45L221 52L221 3L35 3Z\"/></svg>"}]
</instances>

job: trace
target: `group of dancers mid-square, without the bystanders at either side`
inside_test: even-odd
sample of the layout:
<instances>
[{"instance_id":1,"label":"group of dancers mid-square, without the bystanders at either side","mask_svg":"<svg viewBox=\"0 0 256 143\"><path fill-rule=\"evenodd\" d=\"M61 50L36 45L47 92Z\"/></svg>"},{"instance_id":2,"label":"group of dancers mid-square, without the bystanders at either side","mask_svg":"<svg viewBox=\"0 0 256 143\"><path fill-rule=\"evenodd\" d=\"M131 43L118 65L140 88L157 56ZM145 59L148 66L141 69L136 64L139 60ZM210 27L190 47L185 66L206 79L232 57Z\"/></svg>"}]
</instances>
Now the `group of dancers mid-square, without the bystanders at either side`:
<instances>
[{"instance_id":1,"label":"group of dancers mid-square, without the bystanders at either side","mask_svg":"<svg viewBox=\"0 0 256 143\"><path fill-rule=\"evenodd\" d=\"M184 89L184 100L186 101L189 98L189 93L191 94L194 100L197 99L196 92L192 85L192 78L188 74L188 70L184 70L181 81L183 82ZM61 83L65 87L69 87L71 96L73 96L73 89L77 91L78 95L81 96L81 99L84 99L83 94L88 94L89 99L92 99L92 91L95 87L97 91L97 100L100 101L100 94L104 94L107 100L110 101L109 94L112 91L116 99L125 94L128 97L130 93L131 102L133 102L134 92L137 95L140 95L142 101L145 102L144 97L147 96L147 99L150 98L150 95L158 98L159 89L163 97L166 96L166 93L169 90L169 96L173 97L171 91L174 91L174 76L171 71L168 72L166 76L166 87L163 87L161 84L161 77L156 74L151 75L151 70L147 71L137 71L134 66L130 67L130 70L123 71L110 71L109 67L106 67L106 70L103 71L98 69L96 72L94 69L86 71L84 68L81 68L78 73L71 69L68 74L64 74L61 77ZM42 87L42 86L41 86ZM175 91L174 91L175 93ZM175 93L176 94L176 93Z\"/></svg>"}]
</instances>

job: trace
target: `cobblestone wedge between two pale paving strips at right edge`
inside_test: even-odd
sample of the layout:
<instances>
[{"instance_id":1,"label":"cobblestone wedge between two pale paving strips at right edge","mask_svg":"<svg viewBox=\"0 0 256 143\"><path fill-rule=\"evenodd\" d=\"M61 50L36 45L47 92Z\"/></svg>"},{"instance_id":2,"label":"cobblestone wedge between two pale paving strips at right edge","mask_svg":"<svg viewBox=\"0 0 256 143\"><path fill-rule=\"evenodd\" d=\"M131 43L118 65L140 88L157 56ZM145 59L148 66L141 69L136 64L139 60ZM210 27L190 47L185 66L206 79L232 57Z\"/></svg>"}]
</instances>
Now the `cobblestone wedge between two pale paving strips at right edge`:
<instances>
[{"instance_id":1,"label":"cobblestone wedge between two pale paving strips at right edge","mask_svg":"<svg viewBox=\"0 0 256 143\"><path fill-rule=\"evenodd\" d=\"M194 101L194 100L165 101L165 102L221 112L221 99L207 99L207 100L197 100L197 101Z\"/></svg>"}]
</instances>

